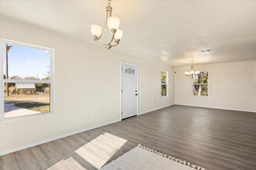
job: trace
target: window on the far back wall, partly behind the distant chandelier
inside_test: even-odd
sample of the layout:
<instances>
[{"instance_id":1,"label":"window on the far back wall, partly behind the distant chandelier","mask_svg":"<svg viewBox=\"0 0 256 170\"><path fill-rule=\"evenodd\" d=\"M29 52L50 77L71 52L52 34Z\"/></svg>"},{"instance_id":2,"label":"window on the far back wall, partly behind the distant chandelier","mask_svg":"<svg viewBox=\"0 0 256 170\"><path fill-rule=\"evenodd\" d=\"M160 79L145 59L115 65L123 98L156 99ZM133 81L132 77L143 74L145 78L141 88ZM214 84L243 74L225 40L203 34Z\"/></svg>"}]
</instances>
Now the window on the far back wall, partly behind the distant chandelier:
<instances>
[{"instance_id":1,"label":"window on the far back wall, partly behind the distant chandelier","mask_svg":"<svg viewBox=\"0 0 256 170\"><path fill-rule=\"evenodd\" d=\"M193 78L193 96L208 96L209 72L203 71Z\"/></svg>"}]
</instances>

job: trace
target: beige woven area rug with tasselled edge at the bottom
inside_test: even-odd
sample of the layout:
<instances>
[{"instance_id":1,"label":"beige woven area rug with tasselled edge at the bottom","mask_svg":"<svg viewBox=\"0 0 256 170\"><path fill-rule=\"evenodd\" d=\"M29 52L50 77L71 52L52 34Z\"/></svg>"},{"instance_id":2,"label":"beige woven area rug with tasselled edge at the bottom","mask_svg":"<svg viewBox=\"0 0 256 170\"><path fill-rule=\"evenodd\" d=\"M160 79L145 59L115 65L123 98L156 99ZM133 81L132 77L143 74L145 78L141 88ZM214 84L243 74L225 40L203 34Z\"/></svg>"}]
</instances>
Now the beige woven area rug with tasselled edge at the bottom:
<instances>
[{"instance_id":1,"label":"beige woven area rug with tasselled edge at the bottom","mask_svg":"<svg viewBox=\"0 0 256 170\"><path fill-rule=\"evenodd\" d=\"M151 148L138 145L126 154L105 165L101 170L206 170L185 160L164 155Z\"/></svg>"}]
</instances>

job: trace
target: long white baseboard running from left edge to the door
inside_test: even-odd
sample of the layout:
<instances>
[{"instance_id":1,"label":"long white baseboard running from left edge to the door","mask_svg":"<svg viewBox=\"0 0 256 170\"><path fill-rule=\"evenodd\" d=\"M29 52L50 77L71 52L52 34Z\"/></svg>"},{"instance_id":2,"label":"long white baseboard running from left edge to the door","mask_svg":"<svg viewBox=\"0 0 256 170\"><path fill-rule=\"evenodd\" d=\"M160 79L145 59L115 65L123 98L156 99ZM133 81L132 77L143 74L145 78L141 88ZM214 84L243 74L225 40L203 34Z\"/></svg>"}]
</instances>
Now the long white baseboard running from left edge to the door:
<instances>
[{"instance_id":1,"label":"long white baseboard running from left edge to the door","mask_svg":"<svg viewBox=\"0 0 256 170\"><path fill-rule=\"evenodd\" d=\"M77 133L81 133L81 132L83 132L83 131L91 130L91 129L94 129L94 128L99 128L99 127L101 127L101 126L105 126L105 125L109 125L109 124L114 124L115 122L119 122L119 121L121 121L121 120L120 120L120 119L117 119L117 120L113 120L113 121L106 122L106 123L104 123L104 124L99 124L99 125L91 126L91 127L89 127L89 128L84 128L84 129L80 129L80 130L75 130L75 131L72 131L72 132L70 132L70 133L66 133L66 134L63 134L63 135L56 136L56 137L44 139L44 140L42 140L42 141L33 142L33 143L28 144L28 145L23 145L23 146L11 148L11 149L9 149L9 150L1 151L1 152L0 152L0 156L6 155L6 154L10 154L11 152L16 152L16 151L19 151L19 150L23 150L23 149L28 148L28 147L40 145L40 144L47 143L47 142L51 142L51 141L54 141L54 140L56 140L56 139L68 137L68 136L70 136L70 135L74 135L74 134L77 134Z\"/></svg>"}]
</instances>

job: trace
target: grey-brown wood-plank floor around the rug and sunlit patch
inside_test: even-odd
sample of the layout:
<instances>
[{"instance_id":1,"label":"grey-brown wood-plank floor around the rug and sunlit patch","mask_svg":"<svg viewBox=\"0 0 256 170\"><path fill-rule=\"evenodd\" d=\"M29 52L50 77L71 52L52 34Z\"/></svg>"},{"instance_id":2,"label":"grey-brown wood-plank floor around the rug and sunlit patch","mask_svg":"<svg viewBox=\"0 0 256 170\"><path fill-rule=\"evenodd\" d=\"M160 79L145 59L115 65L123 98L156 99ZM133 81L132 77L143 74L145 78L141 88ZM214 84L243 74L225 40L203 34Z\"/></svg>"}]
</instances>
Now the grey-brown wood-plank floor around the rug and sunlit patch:
<instances>
[{"instance_id":1,"label":"grey-brown wood-plank floor around the rug and sunlit patch","mask_svg":"<svg viewBox=\"0 0 256 170\"><path fill-rule=\"evenodd\" d=\"M256 169L256 113L181 105L1 156L0 169L47 169L104 132L128 140L107 163L141 143L207 169Z\"/></svg>"}]
</instances>

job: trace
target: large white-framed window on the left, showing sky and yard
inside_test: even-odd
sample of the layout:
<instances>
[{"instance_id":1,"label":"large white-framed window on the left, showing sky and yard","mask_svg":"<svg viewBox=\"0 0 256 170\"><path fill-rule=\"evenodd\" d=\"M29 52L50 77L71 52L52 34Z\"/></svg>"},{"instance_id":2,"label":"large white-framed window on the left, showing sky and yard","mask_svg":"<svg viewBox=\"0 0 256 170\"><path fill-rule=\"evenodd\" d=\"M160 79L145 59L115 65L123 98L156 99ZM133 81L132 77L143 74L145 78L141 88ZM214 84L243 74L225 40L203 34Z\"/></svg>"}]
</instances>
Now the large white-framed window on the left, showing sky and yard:
<instances>
[{"instance_id":1,"label":"large white-framed window on the left, showing sky and yard","mask_svg":"<svg viewBox=\"0 0 256 170\"><path fill-rule=\"evenodd\" d=\"M52 112L53 49L1 40L1 118Z\"/></svg>"}]
</instances>

